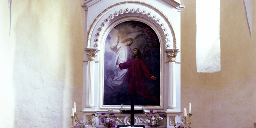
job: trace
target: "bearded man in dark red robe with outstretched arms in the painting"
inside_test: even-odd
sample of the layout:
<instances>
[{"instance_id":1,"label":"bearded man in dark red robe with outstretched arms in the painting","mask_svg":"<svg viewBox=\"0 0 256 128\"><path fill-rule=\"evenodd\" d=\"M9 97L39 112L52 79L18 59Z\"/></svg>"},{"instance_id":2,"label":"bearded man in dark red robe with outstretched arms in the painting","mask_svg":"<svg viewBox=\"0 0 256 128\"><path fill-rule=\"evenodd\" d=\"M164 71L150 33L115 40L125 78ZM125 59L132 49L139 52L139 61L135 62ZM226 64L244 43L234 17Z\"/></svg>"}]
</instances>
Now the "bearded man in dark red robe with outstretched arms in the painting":
<instances>
[{"instance_id":1,"label":"bearded man in dark red robe with outstretched arms in the painting","mask_svg":"<svg viewBox=\"0 0 256 128\"><path fill-rule=\"evenodd\" d=\"M127 62L120 63L116 65L117 68L127 69L127 80L128 81L128 94L138 94L144 98L150 99L155 103L158 103L156 97L154 97L149 91L147 85L145 85L145 78L149 80L156 80L156 77L153 76L145 61L141 57L140 50L135 48L132 51L132 58Z\"/></svg>"}]
</instances>

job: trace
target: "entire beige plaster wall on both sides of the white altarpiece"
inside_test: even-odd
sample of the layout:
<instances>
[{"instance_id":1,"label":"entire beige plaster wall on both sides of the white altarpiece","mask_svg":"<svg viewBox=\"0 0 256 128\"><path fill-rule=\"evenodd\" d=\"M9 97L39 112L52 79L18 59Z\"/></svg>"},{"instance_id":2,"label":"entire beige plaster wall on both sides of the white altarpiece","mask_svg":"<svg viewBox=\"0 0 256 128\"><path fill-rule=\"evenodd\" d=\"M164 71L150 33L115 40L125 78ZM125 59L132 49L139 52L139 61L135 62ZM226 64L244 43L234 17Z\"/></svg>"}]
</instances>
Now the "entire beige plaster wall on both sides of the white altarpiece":
<instances>
[{"instance_id":1,"label":"entire beige plaster wall on both sides of the white altarpiece","mask_svg":"<svg viewBox=\"0 0 256 128\"><path fill-rule=\"evenodd\" d=\"M83 0L12 0L8 37L8 1L0 2L1 128L70 127L73 102L77 111L82 110L82 4ZM220 4L221 70L197 73L196 1L183 0L181 108L192 103L194 128L252 128L256 122L256 2L251 37L243 1Z\"/></svg>"}]
</instances>

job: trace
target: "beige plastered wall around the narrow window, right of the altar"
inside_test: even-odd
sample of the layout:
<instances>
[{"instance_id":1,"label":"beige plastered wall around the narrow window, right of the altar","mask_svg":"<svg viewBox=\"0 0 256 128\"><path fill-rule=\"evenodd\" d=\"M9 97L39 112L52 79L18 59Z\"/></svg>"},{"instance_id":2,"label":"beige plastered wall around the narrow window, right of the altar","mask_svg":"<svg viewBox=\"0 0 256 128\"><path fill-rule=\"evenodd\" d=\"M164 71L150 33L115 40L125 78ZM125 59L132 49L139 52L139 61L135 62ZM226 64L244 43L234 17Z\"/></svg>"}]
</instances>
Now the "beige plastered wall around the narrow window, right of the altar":
<instances>
[{"instance_id":1,"label":"beige plastered wall around the narrow window, right of the altar","mask_svg":"<svg viewBox=\"0 0 256 128\"><path fill-rule=\"evenodd\" d=\"M221 70L215 73L196 71L196 0L183 0L182 4L185 9L181 12L181 108L192 104L194 128L253 128L256 2L252 1L250 37L243 1L220 1Z\"/></svg>"}]
</instances>

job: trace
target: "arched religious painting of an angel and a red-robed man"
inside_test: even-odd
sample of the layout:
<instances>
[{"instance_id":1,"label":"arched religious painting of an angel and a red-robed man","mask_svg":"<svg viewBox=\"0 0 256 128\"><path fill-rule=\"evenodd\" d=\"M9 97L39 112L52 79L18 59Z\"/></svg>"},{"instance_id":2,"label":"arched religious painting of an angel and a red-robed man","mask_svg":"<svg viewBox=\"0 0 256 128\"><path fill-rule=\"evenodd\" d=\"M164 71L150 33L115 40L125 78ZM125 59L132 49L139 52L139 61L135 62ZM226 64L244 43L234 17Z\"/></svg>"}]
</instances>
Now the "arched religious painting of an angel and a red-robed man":
<instances>
[{"instance_id":1,"label":"arched religious painting of an angel and a red-robed man","mask_svg":"<svg viewBox=\"0 0 256 128\"><path fill-rule=\"evenodd\" d=\"M112 28L105 41L103 105L160 105L160 43L140 21Z\"/></svg>"}]
</instances>

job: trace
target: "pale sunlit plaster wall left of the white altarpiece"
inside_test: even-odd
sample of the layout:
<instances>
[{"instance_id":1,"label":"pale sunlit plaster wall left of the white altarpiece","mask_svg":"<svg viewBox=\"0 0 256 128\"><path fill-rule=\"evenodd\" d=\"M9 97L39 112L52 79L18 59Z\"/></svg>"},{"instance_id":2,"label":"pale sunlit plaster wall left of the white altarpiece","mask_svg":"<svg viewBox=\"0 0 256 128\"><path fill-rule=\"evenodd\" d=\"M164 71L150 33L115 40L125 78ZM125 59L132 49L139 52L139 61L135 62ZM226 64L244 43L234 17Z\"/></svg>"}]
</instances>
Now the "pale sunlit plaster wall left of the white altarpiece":
<instances>
[{"instance_id":1,"label":"pale sunlit plaster wall left of the white altarpiece","mask_svg":"<svg viewBox=\"0 0 256 128\"><path fill-rule=\"evenodd\" d=\"M0 2L0 127L71 127L82 110L83 0Z\"/></svg>"}]
</instances>

